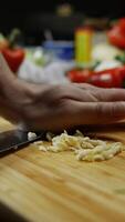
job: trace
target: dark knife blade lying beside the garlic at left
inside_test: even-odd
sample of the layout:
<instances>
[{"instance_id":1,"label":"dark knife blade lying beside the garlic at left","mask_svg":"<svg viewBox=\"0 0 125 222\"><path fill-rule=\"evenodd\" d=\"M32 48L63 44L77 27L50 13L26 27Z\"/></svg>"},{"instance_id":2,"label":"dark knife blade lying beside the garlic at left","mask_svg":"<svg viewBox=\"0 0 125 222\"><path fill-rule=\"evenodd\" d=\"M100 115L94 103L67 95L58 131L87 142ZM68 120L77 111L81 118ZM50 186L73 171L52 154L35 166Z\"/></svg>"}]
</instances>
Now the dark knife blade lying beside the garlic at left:
<instances>
[{"instance_id":1,"label":"dark knife blade lying beside the garlic at left","mask_svg":"<svg viewBox=\"0 0 125 222\"><path fill-rule=\"evenodd\" d=\"M35 132L37 137L28 139L28 132L22 130L10 130L0 133L0 154L9 151L15 151L28 145L31 142L44 138L45 132Z\"/></svg>"}]
</instances>

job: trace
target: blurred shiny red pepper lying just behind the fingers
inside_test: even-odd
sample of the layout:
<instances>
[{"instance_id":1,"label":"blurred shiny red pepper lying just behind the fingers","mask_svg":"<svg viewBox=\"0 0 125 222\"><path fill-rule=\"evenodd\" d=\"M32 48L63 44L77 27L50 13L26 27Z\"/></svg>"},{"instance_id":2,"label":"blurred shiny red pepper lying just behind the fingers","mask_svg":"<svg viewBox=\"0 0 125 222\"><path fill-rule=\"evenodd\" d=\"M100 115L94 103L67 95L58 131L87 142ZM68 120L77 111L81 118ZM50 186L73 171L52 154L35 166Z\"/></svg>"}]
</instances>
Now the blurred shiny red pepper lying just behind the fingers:
<instances>
[{"instance_id":1,"label":"blurred shiny red pepper lying just behind the fingers","mask_svg":"<svg viewBox=\"0 0 125 222\"><path fill-rule=\"evenodd\" d=\"M67 78L72 82L86 82L103 88L125 87L125 65L103 71L71 70Z\"/></svg>"}]
</instances>

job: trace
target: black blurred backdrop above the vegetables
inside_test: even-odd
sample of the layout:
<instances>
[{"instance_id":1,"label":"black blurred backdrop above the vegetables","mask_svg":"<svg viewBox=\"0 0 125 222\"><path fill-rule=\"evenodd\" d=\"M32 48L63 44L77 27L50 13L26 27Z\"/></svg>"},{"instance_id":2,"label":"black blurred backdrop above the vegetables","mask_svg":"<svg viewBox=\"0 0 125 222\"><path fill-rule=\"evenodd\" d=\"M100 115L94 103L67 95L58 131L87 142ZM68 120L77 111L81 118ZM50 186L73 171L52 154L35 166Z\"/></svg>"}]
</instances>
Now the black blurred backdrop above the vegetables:
<instances>
[{"instance_id":1,"label":"black blurred backdrop above the vegetables","mask_svg":"<svg viewBox=\"0 0 125 222\"><path fill-rule=\"evenodd\" d=\"M86 20L94 18L97 23L102 19L106 26L108 19L119 17L125 17L125 0L4 1L0 6L0 32L8 34L12 28L19 28L27 44L40 44L48 38L46 32L54 39L70 40L74 29Z\"/></svg>"}]
</instances>

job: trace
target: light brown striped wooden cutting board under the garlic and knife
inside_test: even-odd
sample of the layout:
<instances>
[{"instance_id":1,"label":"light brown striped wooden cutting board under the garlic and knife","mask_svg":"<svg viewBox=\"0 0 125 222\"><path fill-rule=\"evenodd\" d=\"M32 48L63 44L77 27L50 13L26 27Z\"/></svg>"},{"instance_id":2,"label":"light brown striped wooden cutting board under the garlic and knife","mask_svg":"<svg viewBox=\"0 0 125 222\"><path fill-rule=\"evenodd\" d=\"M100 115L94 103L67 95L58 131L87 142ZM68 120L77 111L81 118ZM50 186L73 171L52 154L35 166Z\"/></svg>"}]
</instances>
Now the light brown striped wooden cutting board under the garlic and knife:
<instances>
[{"instance_id":1,"label":"light brown striped wooden cutting board under the garlic and knife","mask_svg":"<svg viewBox=\"0 0 125 222\"><path fill-rule=\"evenodd\" d=\"M10 128L0 120L2 131ZM98 131L125 142L124 125ZM29 145L0 159L0 202L33 222L123 222L125 152L86 163L71 152L43 153Z\"/></svg>"}]
</instances>

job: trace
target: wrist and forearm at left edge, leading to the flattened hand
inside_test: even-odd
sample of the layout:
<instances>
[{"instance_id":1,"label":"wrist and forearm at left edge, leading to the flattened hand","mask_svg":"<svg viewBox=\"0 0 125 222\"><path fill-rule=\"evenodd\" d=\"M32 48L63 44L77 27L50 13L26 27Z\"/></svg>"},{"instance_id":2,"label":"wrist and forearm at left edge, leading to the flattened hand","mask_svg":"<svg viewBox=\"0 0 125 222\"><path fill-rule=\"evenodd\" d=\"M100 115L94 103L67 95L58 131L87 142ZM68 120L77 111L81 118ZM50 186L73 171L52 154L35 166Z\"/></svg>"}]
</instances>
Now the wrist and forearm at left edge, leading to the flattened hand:
<instances>
[{"instance_id":1,"label":"wrist and forearm at left edge, leading to the flattened hand","mask_svg":"<svg viewBox=\"0 0 125 222\"><path fill-rule=\"evenodd\" d=\"M19 122L23 118L23 108L30 101L32 90L10 71L0 54L0 115Z\"/></svg>"}]
</instances>

